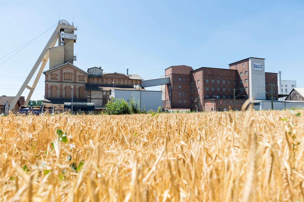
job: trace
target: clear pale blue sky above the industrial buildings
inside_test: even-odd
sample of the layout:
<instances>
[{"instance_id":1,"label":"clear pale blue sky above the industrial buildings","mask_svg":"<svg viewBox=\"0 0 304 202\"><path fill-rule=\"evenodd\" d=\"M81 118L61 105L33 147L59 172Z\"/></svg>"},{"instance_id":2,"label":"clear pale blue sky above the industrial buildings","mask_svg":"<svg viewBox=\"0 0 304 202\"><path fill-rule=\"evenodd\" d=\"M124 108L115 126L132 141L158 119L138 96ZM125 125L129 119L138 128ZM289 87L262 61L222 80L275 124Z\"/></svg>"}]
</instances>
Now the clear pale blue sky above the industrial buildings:
<instances>
[{"instance_id":1,"label":"clear pale blue sky above the industrial buildings","mask_svg":"<svg viewBox=\"0 0 304 202\"><path fill-rule=\"evenodd\" d=\"M59 9L60 19L74 15L74 64L84 70L152 79L172 65L228 68L261 57L266 72L304 87L304 1L3 1L0 58L58 22ZM0 65L1 95L16 95L54 29ZM43 95L44 75L32 99Z\"/></svg>"}]
</instances>

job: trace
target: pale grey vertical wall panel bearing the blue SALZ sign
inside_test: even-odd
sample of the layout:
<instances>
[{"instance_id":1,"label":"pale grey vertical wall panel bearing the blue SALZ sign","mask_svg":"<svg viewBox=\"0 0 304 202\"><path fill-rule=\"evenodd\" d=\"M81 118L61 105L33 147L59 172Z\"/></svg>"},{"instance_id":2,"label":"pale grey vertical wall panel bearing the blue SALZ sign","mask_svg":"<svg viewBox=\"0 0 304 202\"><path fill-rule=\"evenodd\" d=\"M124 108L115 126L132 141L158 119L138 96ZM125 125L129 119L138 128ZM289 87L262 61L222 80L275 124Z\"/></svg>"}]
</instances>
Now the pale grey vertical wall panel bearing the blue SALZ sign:
<instances>
[{"instance_id":1,"label":"pale grey vertical wall panel bearing the blue SALZ sign","mask_svg":"<svg viewBox=\"0 0 304 202\"><path fill-rule=\"evenodd\" d=\"M249 58L249 98L264 100L265 97L265 59Z\"/></svg>"}]
</instances>

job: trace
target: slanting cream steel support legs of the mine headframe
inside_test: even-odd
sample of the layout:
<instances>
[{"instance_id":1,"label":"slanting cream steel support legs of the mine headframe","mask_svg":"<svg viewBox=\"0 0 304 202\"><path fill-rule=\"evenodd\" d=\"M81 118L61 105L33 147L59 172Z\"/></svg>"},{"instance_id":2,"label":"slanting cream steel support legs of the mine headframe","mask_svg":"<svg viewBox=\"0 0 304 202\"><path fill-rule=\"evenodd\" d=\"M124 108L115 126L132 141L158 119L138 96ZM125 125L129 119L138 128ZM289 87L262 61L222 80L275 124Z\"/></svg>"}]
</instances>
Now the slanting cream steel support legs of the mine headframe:
<instances>
[{"instance_id":1,"label":"slanting cream steel support legs of the mine headframe","mask_svg":"<svg viewBox=\"0 0 304 202\"><path fill-rule=\"evenodd\" d=\"M20 90L18 91L16 97L13 99L11 105L9 106L9 110L11 111L14 106L16 105L16 103L18 102L20 96L22 95L23 91L25 88L29 89L30 92L29 92L29 95L27 96L26 98L26 102L24 103L25 105L27 105L29 103L29 99L31 99L31 96L36 88L36 85L38 83L38 80L40 79L40 76L43 72L43 69L49 59L49 56L50 56L50 51L49 51L49 48L52 48L54 47L57 39L58 39L58 33L60 32L60 29L69 29L71 28L71 25L63 25L63 24L58 24L54 33L52 34L52 36L50 37L49 41L47 42L47 45L44 47L43 51L41 52L39 58L37 59L35 65L33 66L32 70L29 72L29 75L26 77L23 85L21 86ZM59 39L60 40L60 39ZM29 85L29 81L33 78L35 72L37 71L40 63L42 62L41 66L40 66L40 69L39 69L39 72L36 76L36 79L33 83L33 86L30 87L28 86Z\"/></svg>"}]
</instances>

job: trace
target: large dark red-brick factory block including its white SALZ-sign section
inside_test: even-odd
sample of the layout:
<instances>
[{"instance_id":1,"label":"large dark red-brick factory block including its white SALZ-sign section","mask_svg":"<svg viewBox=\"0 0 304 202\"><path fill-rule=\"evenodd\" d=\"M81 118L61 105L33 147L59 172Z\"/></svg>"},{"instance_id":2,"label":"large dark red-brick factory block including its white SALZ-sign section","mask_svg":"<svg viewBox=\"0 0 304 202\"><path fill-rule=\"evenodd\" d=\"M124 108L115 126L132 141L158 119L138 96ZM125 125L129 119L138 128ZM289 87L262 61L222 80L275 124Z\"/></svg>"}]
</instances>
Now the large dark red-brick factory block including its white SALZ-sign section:
<instances>
[{"instance_id":1,"label":"large dark red-brick factory block including its white SALZ-sign section","mask_svg":"<svg viewBox=\"0 0 304 202\"><path fill-rule=\"evenodd\" d=\"M229 69L171 66L165 69L165 108L190 108L198 111L240 109L244 99L277 100L277 73L265 72L265 59L247 58L229 64Z\"/></svg>"}]
</instances>

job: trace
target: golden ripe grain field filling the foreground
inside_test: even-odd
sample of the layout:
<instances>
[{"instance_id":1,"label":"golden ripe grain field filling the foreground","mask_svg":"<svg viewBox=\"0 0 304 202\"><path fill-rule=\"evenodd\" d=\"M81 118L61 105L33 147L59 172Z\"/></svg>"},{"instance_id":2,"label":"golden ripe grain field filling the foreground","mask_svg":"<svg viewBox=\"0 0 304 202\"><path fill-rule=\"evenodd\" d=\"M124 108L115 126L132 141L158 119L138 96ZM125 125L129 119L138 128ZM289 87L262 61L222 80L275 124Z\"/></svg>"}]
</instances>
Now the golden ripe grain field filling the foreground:
<instances>
[{"instance_id":1,"label":"golden ripe grain field filling the foreground","mask_svg":"<svg viewBox=\"0 0 304 202\"><path fill-rule=\"evenodd\" d=\"M303 113L0 117L0 200L303 201Z\"/></svg>"}]
</instances>

